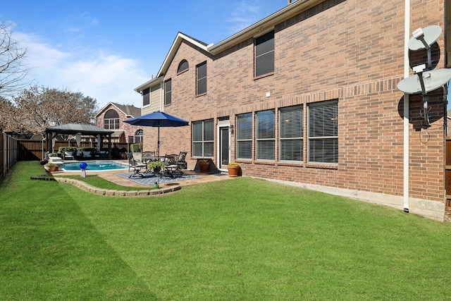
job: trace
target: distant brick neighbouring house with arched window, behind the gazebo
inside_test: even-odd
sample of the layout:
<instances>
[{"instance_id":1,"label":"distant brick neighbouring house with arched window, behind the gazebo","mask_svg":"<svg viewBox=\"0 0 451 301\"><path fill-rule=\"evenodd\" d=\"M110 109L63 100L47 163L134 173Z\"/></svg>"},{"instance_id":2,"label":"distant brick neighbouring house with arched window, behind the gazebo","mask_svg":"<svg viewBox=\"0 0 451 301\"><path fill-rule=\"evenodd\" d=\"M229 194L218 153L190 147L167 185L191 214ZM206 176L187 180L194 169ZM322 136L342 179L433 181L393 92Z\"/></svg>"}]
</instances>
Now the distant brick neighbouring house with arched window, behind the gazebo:
<instances>
[{"instance_id":1,"label":"distant brick neighbouring house with arched window, behind the gazebo","mask_svg":"<svg viewBox=\"0 0 451 301\"><path fill-rule=\"evenodd\" d=\"M100 128L113 130L111 142L142 143L142 128L123 121L141 116L141 109L136 106L109 102L96 115L96 123Z\"/></svg>"}]
</instances>

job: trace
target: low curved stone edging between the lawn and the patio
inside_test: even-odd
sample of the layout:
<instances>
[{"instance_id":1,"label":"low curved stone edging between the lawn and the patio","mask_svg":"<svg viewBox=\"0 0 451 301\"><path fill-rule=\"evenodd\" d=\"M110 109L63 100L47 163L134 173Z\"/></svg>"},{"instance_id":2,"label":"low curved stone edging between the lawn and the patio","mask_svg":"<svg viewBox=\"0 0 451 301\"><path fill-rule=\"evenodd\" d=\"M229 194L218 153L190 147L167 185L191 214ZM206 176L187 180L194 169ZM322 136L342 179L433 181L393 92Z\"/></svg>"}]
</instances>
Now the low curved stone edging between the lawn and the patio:
<instances>
[{"instance_id":1,"label":"low curved stone edging between the lawn and the patio","mask_svg":"<svg viewBox=\"0 0 451 301\"><path fill-rule=\"evenodd\" d=\"M97 195L108 195L108 196L115 196L115 197L145 197L147 195L162 195L163 193L168 192L174 192L177 190L182 189L180 185L174 185L170 188L160 188L160 189L153 189L153 190L110 190L110 189L104 189L104 188L98 188L94 187L92 185L89 185L82 180L75 180L72 178L51 178L51 177L43 177L43 176L32 176L32 180L54 180L61 183L68 183L72 184L75 187L78 187L82 190L85 190L87 192L95 193Z\"/></svg>"}]
</instances>

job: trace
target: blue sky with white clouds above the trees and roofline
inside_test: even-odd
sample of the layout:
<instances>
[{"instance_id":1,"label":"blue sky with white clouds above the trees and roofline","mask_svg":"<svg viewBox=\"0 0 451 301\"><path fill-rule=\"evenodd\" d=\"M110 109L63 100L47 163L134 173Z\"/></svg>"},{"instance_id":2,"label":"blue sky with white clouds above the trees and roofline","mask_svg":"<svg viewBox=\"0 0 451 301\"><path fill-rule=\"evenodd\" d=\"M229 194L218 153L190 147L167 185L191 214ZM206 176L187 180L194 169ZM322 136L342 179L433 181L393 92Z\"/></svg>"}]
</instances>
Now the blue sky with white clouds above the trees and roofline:
<instances>
[{"instance_id":1,"label":"blue sky with white clouds above the trees and roofline","mask_svg":"<svg viewBox=\"0 0 451 301\"><path fill-rule=\"evenodd\" d=\"M135 88L158 73L178 32L206 44L288 5L287 0L15 0L0 22L27 49L32 85L141 107Z\"/></svg>"}]
</instances>

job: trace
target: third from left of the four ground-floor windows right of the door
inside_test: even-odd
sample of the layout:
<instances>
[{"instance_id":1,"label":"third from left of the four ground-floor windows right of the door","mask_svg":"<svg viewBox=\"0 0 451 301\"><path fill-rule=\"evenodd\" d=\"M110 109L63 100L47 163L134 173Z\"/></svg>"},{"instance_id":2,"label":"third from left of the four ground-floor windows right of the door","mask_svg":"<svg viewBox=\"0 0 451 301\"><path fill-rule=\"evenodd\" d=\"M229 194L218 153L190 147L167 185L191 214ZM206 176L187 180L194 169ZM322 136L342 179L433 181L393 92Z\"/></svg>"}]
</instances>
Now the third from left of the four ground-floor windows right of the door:
<instances>
[{"instance_id":1,"label":"third from left of the four ground-floor windows right of the door","mask_svg":"<svg viewBox=\"0 0 451 301\"><path fill-rule=\"evenodd\" d=\"M302 161L304 136L304 111L302 106L290 106L279 112L279 159Z\"/></svg>"}]
</instances>

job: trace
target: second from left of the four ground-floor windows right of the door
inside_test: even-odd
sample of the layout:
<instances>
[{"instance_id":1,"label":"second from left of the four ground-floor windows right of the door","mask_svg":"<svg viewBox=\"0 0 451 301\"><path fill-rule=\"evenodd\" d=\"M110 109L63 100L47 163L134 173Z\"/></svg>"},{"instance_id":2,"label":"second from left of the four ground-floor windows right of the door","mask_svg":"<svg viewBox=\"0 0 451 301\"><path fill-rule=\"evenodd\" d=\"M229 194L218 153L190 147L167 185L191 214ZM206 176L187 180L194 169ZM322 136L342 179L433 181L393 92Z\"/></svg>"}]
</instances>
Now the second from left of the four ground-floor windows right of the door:
<instances>
[{"instance_id":1,"label":"second from left of the four ground-floor windows right of the door","mask_svg":"<svg viewBox=\"0 0 451 301\"><path fill-rule=\"evenodd\" d=\"M276 115L274 110L257 112L256 159L274 160L276 149Z\"/></svg>"}]
</instances>

